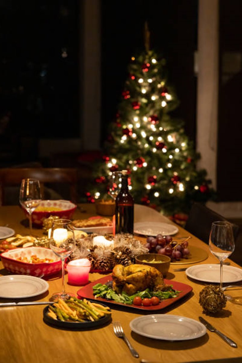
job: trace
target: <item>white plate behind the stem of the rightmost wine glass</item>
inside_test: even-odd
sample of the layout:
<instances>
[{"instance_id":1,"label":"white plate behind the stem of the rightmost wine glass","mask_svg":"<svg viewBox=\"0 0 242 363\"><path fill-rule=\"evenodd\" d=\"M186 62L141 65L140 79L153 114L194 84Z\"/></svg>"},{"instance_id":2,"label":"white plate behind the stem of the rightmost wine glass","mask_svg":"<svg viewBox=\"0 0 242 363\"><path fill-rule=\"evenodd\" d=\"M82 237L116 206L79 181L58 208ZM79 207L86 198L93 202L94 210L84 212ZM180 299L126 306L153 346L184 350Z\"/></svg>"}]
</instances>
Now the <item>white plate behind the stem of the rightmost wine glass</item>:
<instances>
[{"instance_id":1,"label":"white plate behind the stem of the rightmost wine glass","mask_svg":"<svg viewBox=\"0 0 242 363\"><path fill-rule=\"evenodd\" d=\"M186 275L194 280L204 282L220 282L220 265L195 265L186 269ZM223 282L237 282L242 280L242 269L223 265Z\"/></svg>"}]
</instances>

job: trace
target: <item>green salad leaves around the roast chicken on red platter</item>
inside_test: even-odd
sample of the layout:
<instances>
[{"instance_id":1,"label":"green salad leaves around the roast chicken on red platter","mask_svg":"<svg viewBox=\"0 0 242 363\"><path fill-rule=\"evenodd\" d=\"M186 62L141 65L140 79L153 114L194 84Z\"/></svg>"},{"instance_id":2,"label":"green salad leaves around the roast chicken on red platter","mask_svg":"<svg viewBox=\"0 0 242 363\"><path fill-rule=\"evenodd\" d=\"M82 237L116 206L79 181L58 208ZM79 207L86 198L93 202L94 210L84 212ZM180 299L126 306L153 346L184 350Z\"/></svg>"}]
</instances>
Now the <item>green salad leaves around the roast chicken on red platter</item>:
<instances>
[{"instance_id":1,"label":"green salad leaves around the roast chicken on red platter","mask_svg":"<svg viewBox=\"0 0 242 363\"><path fill-rule=\"evenodd\" d=\"M169 299L172 297L177 297L180 291L174 290L172 286L167 291L151 291L149 289L145 289L144 291L138 291L134 295L128 295L124 291L121 294L115 293L115 291L107 286L102 284L96 284L93 286L93 295L95 297L101 297L107 300L114 300L116 302L121 302L123 304L131 305L136 296L143 298L151 298L152 296L157 296L160 300Z\"/></svg>"}]
</instances>

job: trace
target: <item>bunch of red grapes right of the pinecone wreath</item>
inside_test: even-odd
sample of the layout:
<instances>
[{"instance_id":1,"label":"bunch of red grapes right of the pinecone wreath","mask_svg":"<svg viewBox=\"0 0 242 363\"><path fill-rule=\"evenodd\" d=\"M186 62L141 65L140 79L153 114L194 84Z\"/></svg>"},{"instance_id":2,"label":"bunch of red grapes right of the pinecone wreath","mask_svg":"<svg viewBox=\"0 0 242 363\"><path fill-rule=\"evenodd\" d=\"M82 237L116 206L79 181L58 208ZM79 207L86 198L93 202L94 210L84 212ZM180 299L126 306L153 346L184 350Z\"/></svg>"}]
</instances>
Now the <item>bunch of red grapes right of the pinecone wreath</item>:
<instances>
[{"instance_id":1,"label":"bunch of red grapes right of the pinecone wreath","mask_svg":"<svg viewBox=\"0 0 242 363\"><path fill-rule=\"evenodd\" d=\"M187 258L190 253L187 240L177 242L173 241L171 236L163 237L162 234L157 234L156 237L147 237L146 242L145 247L150 253L165 254L172 260Z\"/></svg>"}]
</instances>

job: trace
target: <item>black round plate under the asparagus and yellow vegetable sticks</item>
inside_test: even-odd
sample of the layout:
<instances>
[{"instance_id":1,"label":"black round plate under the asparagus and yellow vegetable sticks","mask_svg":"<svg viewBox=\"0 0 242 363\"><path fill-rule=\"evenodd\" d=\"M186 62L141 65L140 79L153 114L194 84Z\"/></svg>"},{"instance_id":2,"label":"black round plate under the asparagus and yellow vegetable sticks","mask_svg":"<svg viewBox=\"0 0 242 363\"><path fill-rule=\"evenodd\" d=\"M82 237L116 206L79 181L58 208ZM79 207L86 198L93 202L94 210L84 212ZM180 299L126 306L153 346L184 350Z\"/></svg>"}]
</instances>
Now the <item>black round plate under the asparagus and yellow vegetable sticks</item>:
<instances>
[{"instance_id":1,"label":"black round plate under the asparagus and yellow vegetable sticks","mask_svg":"<svg viewBox=\"0 0 242 363\"><path fill-rule=\"evenodd\" d=\"M100 302L98 302L100 305L107 307L107 305L104 305ZM104 317L100 318L97 321L85 321L85 322L71 322L71 321L61 321L61 320L55 320L49 317L48 313L49 306L46 306L43 310L43 320L46 324L55 326L57 328L64 328L64 329L95 329L102 325L106 325L112 320L111 314L107 314ZM110 308L109 308L110 309ZM109 310L111 311L111 309Z\"/></svg>"}]
</instances>

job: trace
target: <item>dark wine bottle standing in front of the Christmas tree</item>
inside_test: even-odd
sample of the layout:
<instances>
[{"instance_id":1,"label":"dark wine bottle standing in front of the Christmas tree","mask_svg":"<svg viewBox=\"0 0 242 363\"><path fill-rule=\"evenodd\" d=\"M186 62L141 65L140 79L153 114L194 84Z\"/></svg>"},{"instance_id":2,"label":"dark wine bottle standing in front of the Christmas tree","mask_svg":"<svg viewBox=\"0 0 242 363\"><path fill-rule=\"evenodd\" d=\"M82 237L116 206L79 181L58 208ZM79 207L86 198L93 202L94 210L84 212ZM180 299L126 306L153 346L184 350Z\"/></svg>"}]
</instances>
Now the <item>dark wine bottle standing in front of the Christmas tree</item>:
<instances>
[{"instance_id":1,"label":"dark wine bottle standing in front of the Christmas tree","mask_svg":"<svg viewBox=\"0 0 242 363\"><path fill-rule=\"evenodd\" d=\"M128 190L127 170L122 170L122 184L115 200L115 233L134 233L134 199Z\"/></svg>"}]
</instances>

